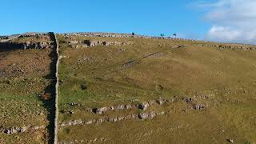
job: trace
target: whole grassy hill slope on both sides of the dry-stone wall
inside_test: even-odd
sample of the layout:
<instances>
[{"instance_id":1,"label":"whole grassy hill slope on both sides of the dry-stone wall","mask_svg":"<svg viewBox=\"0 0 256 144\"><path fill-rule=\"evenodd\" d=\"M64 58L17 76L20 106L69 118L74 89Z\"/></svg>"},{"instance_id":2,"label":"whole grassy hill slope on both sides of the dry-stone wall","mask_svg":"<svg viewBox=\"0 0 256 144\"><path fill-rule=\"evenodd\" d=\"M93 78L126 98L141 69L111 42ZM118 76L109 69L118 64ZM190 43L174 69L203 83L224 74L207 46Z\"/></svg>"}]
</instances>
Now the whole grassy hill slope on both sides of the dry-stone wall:
<instances>
[{"instance_id":1,"label":"whole grassy hill slope on both sides of the dry-stone wall","mask_svg":"<svg viewBox=\"0 0 256 144\"><path fill-rule=\"evenodd\" d=\"M50 34L0 42L0 143L54 138ZM254 143L256 46L58 34L59 143Z\"/></svg>"}]
</instances>

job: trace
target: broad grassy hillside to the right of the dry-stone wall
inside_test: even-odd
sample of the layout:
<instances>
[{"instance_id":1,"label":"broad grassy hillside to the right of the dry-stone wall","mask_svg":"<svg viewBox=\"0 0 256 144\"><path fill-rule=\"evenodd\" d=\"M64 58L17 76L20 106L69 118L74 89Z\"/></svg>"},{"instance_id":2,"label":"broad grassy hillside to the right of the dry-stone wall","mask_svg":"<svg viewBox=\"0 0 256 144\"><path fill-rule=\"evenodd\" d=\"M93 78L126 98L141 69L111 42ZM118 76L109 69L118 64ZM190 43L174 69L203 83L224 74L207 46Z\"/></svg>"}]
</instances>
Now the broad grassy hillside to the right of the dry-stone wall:
<instances>
[{"instance_id":1,"label":"broad grassy hillside to the right of the dry-stone wall","mask_svg":"<svg viewBox=\"0 0 256 144\"><path fill-rule=\"evenodd\" d=\"M253 46L58 38L60 142L256 142Z\"/></svg>"}]
</instances>

